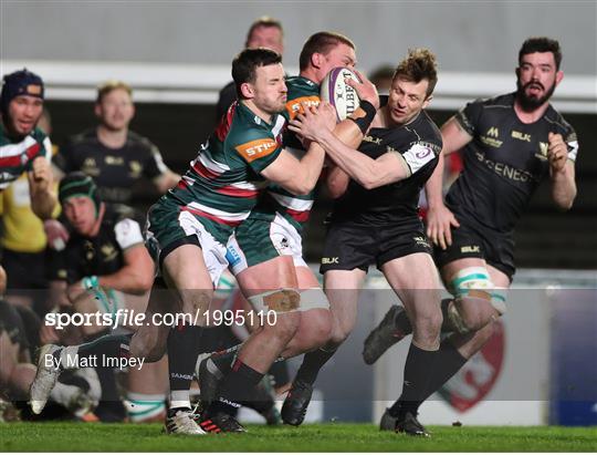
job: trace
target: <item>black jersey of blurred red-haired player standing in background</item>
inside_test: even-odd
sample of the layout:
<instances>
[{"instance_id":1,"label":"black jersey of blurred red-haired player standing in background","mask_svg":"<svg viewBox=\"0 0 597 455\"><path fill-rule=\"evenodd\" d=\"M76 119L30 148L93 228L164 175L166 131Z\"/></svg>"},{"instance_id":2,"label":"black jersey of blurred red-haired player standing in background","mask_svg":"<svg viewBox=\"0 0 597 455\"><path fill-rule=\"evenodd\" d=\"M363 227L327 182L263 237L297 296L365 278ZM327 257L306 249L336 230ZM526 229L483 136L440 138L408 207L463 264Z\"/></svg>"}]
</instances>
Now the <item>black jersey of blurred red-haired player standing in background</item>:
<instances>
[{"instance_id":1,"label":"black jersey of blurred red-haired player standing in background","mask_svg":"<svg viewBox=\"0 0 597 455\"><path fill-rule=\"evenodd\" d=\"M94 130L73 136L54 158L65 174L83 170L91 175L102 200L130 204L133 186L140 178L154 179L167 170L159 149L145 137L128 132L121 148L100 142Z\"/></svg>"}]
</instances>

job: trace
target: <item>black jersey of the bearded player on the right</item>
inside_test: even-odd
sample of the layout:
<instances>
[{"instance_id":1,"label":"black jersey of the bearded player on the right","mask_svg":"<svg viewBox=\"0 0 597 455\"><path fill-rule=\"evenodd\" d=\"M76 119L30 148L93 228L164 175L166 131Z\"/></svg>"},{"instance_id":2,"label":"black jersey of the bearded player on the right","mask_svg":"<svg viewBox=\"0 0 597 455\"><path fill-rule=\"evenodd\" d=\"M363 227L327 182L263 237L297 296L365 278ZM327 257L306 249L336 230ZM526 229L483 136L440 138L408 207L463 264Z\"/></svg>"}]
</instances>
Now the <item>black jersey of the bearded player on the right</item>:
<instances>
[{"instance_id":1,"label":"black jersey of the bearded player on the right","mask_svg":"<svg viewBox=\"0 0 597 455\"><path fill-rule=\"evenodd\" d=\"M514 112L514 93L467 104L455 118L473 138L463 149L462 173L446 196L457 218L510 232L532 194L549 173L547 135L562 134L576 159L576 133L551 105L535 123Z\"/></svg>"}]
</instances>

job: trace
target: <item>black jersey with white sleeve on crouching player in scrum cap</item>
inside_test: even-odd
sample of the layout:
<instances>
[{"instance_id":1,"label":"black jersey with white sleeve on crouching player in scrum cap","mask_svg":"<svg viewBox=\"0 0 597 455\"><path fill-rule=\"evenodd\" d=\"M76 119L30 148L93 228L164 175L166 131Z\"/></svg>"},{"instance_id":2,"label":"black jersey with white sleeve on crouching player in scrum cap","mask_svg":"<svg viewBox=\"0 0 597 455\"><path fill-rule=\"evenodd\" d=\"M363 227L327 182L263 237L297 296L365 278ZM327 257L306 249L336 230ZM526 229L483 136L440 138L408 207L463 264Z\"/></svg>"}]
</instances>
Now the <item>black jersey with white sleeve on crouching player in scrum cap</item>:
<instances>
[{"instance_id":1,"label":"black jersey with white sleeve on crouching player in scrum cap","mask_svg":"<svg viewBox=\"0 0 597 455\"><path fill-rule=\"evenodd\" d=\"M114 207L106 204L97 236L83 237L73 230L64 249L48 249L48 278L72 285L83 277L115 273L124 266L124 251L139 244L143 244L139 224L123 218Z\"/></svg>"}]
</instances>

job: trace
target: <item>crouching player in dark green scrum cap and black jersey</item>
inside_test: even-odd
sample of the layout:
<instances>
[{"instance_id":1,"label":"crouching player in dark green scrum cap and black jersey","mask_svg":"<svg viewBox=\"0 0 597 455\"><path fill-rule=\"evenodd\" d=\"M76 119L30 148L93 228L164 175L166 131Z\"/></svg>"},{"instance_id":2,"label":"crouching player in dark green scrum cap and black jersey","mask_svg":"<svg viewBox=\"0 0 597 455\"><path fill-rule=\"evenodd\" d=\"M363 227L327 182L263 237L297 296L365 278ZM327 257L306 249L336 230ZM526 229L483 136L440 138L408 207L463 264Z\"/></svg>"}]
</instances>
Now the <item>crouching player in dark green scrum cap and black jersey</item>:
<instances>
[{"instance_id":1,"label":"crouching player in dark green scrum cap and black jersey","mask_svg":"<svg viewBox=\"0 0 597 455\"><path fill-rule=\"evenodd\" d=\"M53 301L61 302L62 310L77 313L116 314L118 309L143 313L154 281L154 263L145 248L140 226L105 204L93 179L82 172L71 173L62 179L59 196L73 232L64 249L50 254ZM122 321L121 325L124 325ZM81 332L86 341L93 341L109 330L85 324ZM165 411L166 371L163 369L166 360L160 363L145 365L140 372L132 369L129 373L135 375L129 385L134 392L130 399L136 401L137 409L145 407L158 415ZM96 371L102 385L97 417L108 422L123 420L125 410L113 371L101 366ZM164 379L161 384L156 383L159 376ZM35 396L32 389L32 399ZM153 403L147 405L148 401Z\"/></svg>"}]
</instances>

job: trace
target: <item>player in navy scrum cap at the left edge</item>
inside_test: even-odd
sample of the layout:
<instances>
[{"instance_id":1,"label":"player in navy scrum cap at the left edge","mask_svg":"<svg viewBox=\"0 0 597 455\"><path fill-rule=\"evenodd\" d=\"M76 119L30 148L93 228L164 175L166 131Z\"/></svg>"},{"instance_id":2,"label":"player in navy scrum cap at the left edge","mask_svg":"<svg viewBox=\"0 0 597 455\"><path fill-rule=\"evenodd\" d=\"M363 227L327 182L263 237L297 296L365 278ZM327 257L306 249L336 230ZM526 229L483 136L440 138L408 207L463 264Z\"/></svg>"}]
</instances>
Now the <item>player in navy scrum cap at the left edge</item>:
<instances>
[{"instance_id":1,"label":"player in navy scrum cap at the left edge","mask_svg":"<svg viewBox=\"0 0 597 455\"><path fill-rule=\"evenodd\" d=\"M0 94L0 192L27 172L31 209L49 219L56 204L50 168L52 144L36 128L43 111L43 81L23 69L7 74Z\"/></svg>"}]
</instances>

